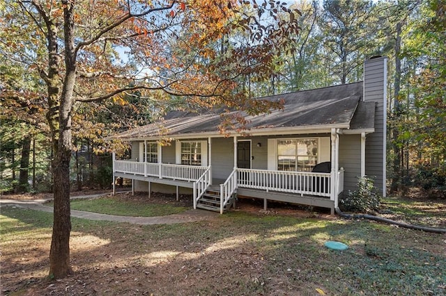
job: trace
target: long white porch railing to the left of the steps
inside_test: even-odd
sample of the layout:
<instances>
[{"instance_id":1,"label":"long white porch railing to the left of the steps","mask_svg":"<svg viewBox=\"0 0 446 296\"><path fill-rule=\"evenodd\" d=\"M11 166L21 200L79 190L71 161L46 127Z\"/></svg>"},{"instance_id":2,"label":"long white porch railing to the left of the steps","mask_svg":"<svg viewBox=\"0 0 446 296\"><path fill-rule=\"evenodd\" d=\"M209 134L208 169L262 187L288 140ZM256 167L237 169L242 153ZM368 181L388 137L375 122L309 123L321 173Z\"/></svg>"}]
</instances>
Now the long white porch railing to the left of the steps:
<instances>
[{"instance_id":1,"label":"long white porch railing to the left of the steps","mask_svg":"<svg viewBox=\"0 0 446 296\"><path fill-rule=\"evenodd\" d=\"M161 167L161 169L160 169ZM114 161L114 171L140 176L181 181L197 181L209 167L197 165L174 165L167 163L139 163L137 161Z\"/></svg>"}]
</instances>

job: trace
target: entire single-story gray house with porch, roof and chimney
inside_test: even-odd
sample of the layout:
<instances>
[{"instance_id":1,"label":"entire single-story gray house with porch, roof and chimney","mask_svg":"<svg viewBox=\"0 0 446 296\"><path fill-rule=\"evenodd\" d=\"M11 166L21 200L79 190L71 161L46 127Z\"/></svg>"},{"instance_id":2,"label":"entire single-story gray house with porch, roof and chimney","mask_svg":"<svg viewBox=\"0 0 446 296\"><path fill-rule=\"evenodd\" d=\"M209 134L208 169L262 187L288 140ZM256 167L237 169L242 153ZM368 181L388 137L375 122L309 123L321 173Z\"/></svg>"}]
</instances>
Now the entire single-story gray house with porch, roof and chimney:
<instances>
[{"instance_id":1,"label":"entire single-story gray house with porch, roof and chimney","mask_svg":"<svg viewBox=\"0 0 446 296\"><path fill-rule=\"evenodd\" d=\"M247 133L229 137L218 129L220 115L172 112L162 126L114 135L132 153L125 161L113 155L113 176L149 196L192 193L194 208L220 213L237 196L334 213L359 176L374 177L385 196L386 87L387 58L370 58L364 81L267 97L283 99L284 109L247 117Z\"/></svg>"}]
</instances>

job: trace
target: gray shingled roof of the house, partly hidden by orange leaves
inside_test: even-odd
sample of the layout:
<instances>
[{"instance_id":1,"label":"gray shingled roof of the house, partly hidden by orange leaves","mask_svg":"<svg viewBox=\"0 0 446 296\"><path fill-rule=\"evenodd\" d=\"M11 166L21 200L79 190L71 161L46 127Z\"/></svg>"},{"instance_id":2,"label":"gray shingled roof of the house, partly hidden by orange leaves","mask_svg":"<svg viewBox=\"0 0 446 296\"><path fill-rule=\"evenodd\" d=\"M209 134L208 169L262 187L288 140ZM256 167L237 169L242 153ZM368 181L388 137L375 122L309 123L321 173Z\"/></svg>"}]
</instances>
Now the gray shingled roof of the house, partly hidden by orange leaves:
<instances>
[{"instance_id":1,"label":"gray shingled roof of the house, partly hidden by orange leaves","mask_svg":"<svg viewBox=\"0 0 446 296\"><path fill-rule=\"evenodd\" d=\"M277 101L284 99L284 110L274 110L268 115L247 116L247 128L251 132L261 129L295 127L302 129L341 126L345 129L373 129L375 103L362 101L362 82L277 94L263 97ZM114 135L112 138L137 139L163 135L187 135L190 133L216 133L221 122L220 115L193 115L172 112L163 122L155 122Z\"/></svg>"}]
</instances>

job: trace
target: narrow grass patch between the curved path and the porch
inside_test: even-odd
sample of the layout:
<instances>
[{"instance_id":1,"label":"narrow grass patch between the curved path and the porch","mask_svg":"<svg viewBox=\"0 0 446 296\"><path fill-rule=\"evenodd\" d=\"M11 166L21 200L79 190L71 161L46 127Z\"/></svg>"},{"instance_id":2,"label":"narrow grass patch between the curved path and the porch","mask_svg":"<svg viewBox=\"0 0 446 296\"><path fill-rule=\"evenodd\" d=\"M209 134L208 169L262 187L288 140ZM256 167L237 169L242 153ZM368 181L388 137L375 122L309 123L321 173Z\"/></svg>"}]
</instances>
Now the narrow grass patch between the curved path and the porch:
<instances>
[{"instance_id":1,"label":"narrow grass patch between the curved path and the porch","mask_svg":"<svg viewBox=\"0 0 446 296\"><path fill-rule=\"evenodd\" d=\"M71 209L108 215L155 217L183 213L188 208L172 204L154 204L116 197L102 197L72 200Z\"/></svg>"}]
</instances>

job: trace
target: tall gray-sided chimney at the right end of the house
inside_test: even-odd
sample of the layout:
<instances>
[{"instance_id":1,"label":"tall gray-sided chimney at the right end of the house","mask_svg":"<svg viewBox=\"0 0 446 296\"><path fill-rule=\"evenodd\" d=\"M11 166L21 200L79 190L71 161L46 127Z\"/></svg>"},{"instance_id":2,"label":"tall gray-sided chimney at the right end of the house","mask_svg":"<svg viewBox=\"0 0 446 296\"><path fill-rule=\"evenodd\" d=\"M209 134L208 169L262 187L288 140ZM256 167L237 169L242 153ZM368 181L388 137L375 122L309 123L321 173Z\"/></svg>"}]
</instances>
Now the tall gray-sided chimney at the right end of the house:
<instances>
[{"instance_id":1,"label":"tall gray-sided chimney at the right end of the house","mask_svg":"<svg viewBox=\"0 0 446 296\"><path fill-rule=\"evenodd\" d=\"M364 63L364 101L375 101L375 132L366 138L366 174L385 195L385 133L387 58L374 58Z\"/></svg>"}]
</instances>

